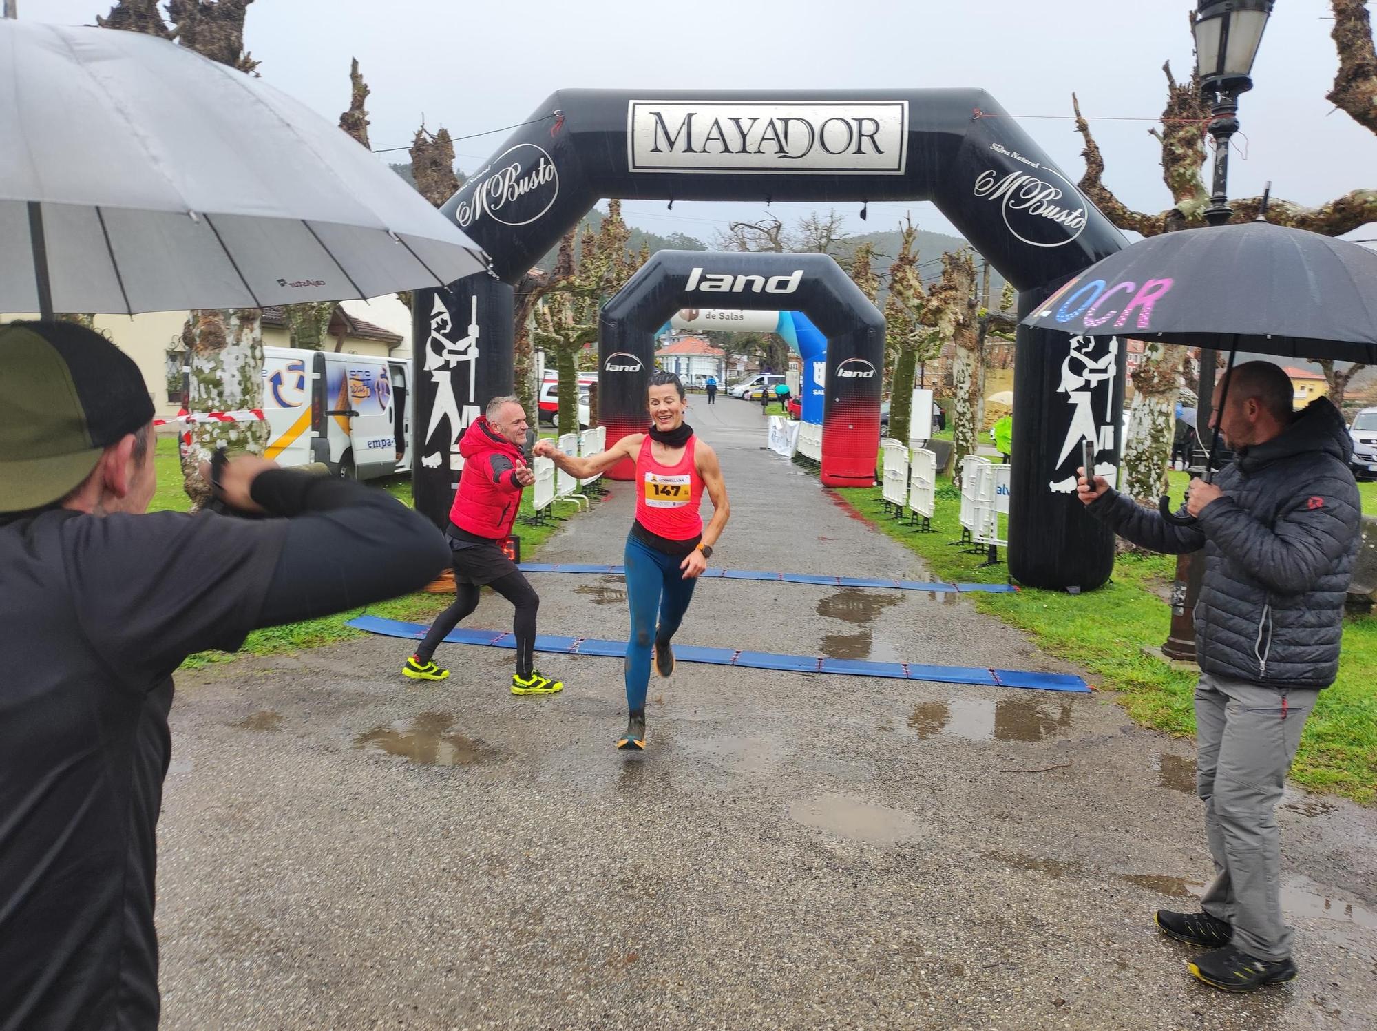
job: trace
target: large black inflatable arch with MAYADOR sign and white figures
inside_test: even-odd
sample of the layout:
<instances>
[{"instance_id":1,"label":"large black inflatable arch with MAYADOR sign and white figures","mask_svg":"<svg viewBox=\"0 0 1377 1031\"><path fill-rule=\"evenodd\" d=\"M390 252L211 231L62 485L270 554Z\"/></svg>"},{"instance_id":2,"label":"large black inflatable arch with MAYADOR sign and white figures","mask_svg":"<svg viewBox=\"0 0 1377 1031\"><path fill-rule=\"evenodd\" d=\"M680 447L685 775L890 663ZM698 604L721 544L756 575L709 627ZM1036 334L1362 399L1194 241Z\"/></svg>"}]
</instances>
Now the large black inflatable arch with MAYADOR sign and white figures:
<instances>
[{"instance_id":1,"label":"large black inflatable arch with MAYADOR sign and white figures","mask_svg":"<svg viewBox=\"0 0 1377 1031\"><path fill-rule=\"evenodd\" d=\"M511 390L512 284L602 197L931 200L1020 291L1023 312L1125 244L980 90L559 91L443 205L492 274L419 291L413 306L416 500L437 521L450 442ZM1066 442L1092 433L1099 460L1117 462L1122 376L1081 375L1108 365L1064 334L1018 334L1009 572L1095 587L1113 536L1066 489L1078 451Z\"/></svg>"}]
</instances>

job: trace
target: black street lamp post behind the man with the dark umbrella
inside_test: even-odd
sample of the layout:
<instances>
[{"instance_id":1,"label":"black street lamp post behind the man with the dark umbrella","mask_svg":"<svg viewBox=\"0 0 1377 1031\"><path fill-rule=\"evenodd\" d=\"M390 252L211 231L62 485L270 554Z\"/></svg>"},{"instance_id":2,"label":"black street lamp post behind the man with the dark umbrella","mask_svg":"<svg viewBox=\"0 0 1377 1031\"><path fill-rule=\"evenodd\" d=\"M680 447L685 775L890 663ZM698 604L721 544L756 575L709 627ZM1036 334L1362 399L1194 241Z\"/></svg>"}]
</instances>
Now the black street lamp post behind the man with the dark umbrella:
<instances>
[{"instance_id":1,"label":"black street lamp post behind the man with the dark umbrella","mask_svg":"<svg viewBox=\"0 0 1377 1031\"><path fill-rule=\"evenodd\" d=\"M1253 88L1253 59L1263 41L1274 0L1199 0L1191 32L1195 36L1195 76L1210 102L1209 134L1215 139L1215 179L1205 221L1227 225L1234 216L1228 205L1228 145L1238 132L1238 96ZM1201 350L1201 375L1195 402L1195 427L1201 438L1209 426L1215 394L1215 351ZM1205 470L1191 470L1205 471ZM1195 598L1199 595L1203 557L1181 555L1172 584L1172 629L1162 645L1169 659L1195 659Z\"/></svg>"}]
</instances>

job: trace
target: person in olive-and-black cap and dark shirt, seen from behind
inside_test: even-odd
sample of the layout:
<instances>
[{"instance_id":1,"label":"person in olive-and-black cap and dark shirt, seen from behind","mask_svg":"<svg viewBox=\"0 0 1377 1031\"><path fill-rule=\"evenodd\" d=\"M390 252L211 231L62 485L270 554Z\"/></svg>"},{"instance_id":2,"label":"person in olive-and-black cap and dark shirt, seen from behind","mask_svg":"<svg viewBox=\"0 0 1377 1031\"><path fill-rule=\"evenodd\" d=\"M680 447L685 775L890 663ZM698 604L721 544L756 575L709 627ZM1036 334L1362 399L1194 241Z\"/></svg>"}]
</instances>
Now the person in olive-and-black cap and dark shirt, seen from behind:
<instances>
[{"instance_id":1,"label":"person in olive-and-black cap and dark shirt, seen from behind","mask_svg":"<svg viewBox=\"0 0 1377 1031\"><path fill-rule=\"evenodd\" d=\"M227 463L260 518L145 514L153 402L70 323L0 327L0 1030L154 1028L172 673L256 627L425 584L439 532L383 491Z\"/></svg>"}]
</instances>

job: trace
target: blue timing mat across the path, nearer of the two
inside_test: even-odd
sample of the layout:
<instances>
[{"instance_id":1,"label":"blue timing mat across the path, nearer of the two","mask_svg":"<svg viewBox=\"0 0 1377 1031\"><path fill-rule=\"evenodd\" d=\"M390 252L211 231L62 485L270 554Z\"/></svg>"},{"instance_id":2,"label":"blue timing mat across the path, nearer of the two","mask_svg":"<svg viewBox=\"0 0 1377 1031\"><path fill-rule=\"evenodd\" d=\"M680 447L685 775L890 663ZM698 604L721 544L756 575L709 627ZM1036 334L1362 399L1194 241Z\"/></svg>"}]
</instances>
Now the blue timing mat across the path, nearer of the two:
<instances>
[{"instance_id":1,"label":"blue timing mat across the path, nearer of the two","mask_svg":"<svg viewBox=\"0 0 1377 1031\"><path fill-rule=\"evenodd\" d=\"M359 616L344 626L383 637L403 637L420 641L427 627L419 623L401 623L379 616ZM501 630L450 631L446 644L487 645L490 648L516 648L516 638ZM627 655L625 641L599 641L591 637L536 637L537 652L556 655L598 655L607 659L622 659ZM925 680L938 684L979 684L987 688L1033 688L1037 691L1067 691L1088 695L1089 688L1080 677L1064 673L1029 673L1024 670L989 670L972 666L921 666L898 662L862 662L858 659L828 659L812 655L777 655L774 652L742 652L733 648L701 648L698 645L675 645L677 662L701 662L712 666L744 666L753 670L784 670L786 673L840 673L847 677L888 677L891 680Z\"/></svg>"}]
</instances>

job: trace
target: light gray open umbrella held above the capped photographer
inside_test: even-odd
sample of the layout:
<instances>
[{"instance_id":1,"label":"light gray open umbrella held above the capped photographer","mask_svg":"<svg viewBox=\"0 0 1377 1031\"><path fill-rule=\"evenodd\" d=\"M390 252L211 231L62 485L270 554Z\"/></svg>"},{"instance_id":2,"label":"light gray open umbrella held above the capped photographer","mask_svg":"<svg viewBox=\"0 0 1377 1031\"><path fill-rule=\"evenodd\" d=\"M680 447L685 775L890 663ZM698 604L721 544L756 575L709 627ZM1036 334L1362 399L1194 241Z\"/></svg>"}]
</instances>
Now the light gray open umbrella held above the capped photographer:
<instances>
[{"instance_id":1,"label":"light gray open umbrella held above the capped photographer","mask_svg":"<svg viewBox=\"0 0 1377 1031\"><path fill-rule=\"evenodd\" d=\"M262 79L140 33L0 21L0 312L369 298L485 267Z\"/></svg>"}]
</instances>

